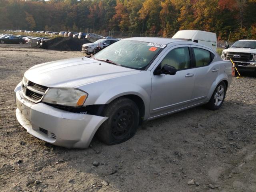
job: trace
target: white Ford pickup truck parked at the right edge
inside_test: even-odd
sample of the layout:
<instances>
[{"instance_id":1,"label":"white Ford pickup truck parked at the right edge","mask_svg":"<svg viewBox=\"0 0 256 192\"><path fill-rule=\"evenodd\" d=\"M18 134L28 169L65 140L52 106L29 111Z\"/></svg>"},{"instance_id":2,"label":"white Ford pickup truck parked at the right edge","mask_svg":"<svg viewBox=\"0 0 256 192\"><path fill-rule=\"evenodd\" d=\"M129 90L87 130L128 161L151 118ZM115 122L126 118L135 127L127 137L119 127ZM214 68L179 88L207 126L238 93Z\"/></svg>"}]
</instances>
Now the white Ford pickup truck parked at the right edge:
<instances>
[{"instance_id":1,"label":"white Ford pickup truck parked at the right edge","mask_svg":"<svg viewBox=\"0 0 256 192\"><path fill-rule=\"evenodd\" d=\"M256 40L239 40L222 51L223 60L232 60L238 71L254 72L256 75Z\"/></svg>"}]
</instances>

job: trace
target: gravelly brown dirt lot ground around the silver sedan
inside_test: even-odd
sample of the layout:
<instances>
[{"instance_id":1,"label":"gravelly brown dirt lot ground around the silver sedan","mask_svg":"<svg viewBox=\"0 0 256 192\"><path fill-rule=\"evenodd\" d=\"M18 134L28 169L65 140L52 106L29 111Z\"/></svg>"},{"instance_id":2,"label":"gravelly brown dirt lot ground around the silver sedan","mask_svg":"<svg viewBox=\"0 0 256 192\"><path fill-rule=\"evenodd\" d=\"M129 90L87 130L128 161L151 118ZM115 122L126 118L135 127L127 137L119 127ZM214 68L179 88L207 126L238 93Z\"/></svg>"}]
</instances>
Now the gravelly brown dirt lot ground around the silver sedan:
<instances>
[{"instance_id":1,"label":"gravelly brown dirt lot ground around the silver sedan","mask_svg":"<svg viewBox=\"0 0 256 192\"><path fill-rule=\"evenodd\" d=\"M115 146L94 138L88 149L68 150L28 134L16 120L13 91L24 72L81 55L0 45L1 192L256 191L255 78L233 78L220 110L200 106L146 122Z\"/></svg>"}]
</instances>

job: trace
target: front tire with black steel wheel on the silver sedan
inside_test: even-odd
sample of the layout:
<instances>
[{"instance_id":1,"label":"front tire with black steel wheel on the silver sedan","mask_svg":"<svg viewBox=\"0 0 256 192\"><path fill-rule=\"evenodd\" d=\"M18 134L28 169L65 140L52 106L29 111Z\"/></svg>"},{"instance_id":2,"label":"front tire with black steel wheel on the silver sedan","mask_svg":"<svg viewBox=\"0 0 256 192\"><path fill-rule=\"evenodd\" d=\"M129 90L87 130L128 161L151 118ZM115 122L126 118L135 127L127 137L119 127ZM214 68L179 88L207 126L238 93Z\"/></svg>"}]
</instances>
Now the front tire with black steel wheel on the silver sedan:
<instances>
[{"instance_id":1,"label":"front tire with black steel wheel on the silver sedan","mask_svg":"<svg viewBox=\"0 0 256 192\"><path fill-rule=\"evenodd\" d=\"M103 116L108 119L98 129L97 137L108 145L130 139L139 126L138 106L128 98L118 98L108 104Z\"/></svg>"}]
</instances>

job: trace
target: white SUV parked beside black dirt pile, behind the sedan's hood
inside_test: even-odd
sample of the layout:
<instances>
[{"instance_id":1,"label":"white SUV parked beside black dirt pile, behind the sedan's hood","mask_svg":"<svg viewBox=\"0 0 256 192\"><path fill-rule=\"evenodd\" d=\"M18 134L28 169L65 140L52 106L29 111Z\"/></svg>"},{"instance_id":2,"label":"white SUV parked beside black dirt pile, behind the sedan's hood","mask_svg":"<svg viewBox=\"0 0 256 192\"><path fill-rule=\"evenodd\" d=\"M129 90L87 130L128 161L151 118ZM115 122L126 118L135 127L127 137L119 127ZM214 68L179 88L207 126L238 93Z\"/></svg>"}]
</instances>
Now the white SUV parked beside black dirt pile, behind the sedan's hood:
<instances>
[{"instance_id":1,"label":"white SUV parked beside black dirt pile, behind the sedan's hood","mask_svg":"<svg viewBox=\"0 0 256 192\"><path fill-rule=\"evenodd\" d=\"M117 41L118 39L99 39L94 43L86 43L82 45L82 52L86 54L92 54L92 53L98 52L98 50L101 50ZM97 46L98 46L98 49L95 50Z\"/></svg>"}]
</instances>

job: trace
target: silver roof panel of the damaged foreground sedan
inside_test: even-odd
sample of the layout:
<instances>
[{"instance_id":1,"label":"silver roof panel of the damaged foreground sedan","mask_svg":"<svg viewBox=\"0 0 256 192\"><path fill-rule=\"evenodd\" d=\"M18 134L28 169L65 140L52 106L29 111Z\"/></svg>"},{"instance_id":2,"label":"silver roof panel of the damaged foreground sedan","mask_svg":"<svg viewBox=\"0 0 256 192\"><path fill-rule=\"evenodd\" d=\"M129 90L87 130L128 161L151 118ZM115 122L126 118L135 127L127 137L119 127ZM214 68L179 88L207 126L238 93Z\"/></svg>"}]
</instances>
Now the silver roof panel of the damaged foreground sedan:
<instances>
[{"instance_id":1,"label":"silver roof panel of the damaged foreground sedan","mask_svg":"<svg viewBox=\"0 0 256 192\"><path fill-rule=\"evenodd\" d=\"M162 37L131 37L131 38L123 39L123 40L144 41L144 42L158 43L158 44L163 44L163 45L167 45L169 43L178 42L178 41L184 42L184 40L162 38Z\"/></svg>"}]
</instances>

